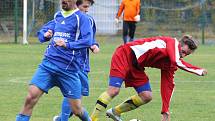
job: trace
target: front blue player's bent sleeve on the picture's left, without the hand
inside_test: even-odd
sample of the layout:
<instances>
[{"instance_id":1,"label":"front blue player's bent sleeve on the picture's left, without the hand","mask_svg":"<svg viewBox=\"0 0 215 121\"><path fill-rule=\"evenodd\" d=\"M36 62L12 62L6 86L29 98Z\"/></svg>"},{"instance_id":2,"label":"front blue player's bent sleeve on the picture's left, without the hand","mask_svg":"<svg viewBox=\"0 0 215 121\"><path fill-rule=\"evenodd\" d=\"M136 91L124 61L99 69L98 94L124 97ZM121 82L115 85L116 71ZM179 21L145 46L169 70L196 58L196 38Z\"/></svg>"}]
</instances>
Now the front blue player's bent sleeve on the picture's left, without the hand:
<instances>
[{"instance_id":1,"label":"front blue player's bent sleeve on the picture's left, without the hand","mask_svg":"<svg viewBox=\"0 0 215 121\"><path fill-rule=\"evenodd\" d=\"M48 30L52 30L54 33L55 20L49 21L37 32L38 39L41 43L49 41L51 38L44 37L44 33Z\"/></svg>"}]
</instances>

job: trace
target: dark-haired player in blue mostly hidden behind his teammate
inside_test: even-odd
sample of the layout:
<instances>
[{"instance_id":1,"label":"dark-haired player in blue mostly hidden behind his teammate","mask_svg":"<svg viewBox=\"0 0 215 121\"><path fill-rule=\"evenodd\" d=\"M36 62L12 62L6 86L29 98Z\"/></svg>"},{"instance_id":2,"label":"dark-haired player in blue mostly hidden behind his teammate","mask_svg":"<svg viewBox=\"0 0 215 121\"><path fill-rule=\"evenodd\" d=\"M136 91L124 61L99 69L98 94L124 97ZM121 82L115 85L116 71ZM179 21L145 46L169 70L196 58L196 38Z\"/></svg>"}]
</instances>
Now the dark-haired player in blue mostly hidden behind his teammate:
<instances>
[{"instance_id":1,"label":"dark-haired player in blue mostly hidden behind his teammate","mask_svg":"<svg viewBox=\"0 0 215 121\"><path fill-rule=\"evenodd\" d=\"M76 4L81 11L87 13L89 10L89 7L94 4L94 0L77 0ZM91 25L93 28L93 45L91 46L90 49L92 50L93 53L98 53L99 46L95 40L95 33L96 33L95 21L93 20L93 18L91 16L89 16L89 19L91 21ZM89 57L89 49L86 52ZM80 76L81 84L82 84L82 95L83 96L89 95L89 84L88 84L89 80L88 80L88 75L87 75L89 71L90 71L90 67L89 67L89 58L88 58L88 61L86 61L86 63L84 63L83 71L79 71L79 76ZM53 121L68 121L69 117L71 117L73 115L73 111L71 110L71 107L70 107L70 104L69 104L69 101L67 98L63 99L61 108L62 109L61 109L60 115L54 116Z\"/></svg>"}]
</instances>

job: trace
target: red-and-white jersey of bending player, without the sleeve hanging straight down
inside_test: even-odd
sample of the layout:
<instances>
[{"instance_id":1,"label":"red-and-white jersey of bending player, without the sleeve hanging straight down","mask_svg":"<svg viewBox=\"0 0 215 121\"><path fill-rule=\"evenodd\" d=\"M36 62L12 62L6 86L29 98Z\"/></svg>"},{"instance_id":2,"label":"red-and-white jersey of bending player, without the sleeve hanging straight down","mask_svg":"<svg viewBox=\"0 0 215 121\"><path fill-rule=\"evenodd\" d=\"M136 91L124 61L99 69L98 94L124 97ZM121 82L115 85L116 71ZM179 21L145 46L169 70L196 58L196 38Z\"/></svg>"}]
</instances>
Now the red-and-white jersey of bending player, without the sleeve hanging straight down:
<instances>
[{"instance_id":1,"label":"red-and-white jersey of bending player, without the sleeve hanging straight down","mask_svg":"<svg viewBox=\"0 0 215 121\"><path fill-rule=\"evenodd\" d=\"M185 71L202 75L203 69L193 66L180 58L181 45L177 39L158 36L135 40L125 44L125 51L130 49L135 53L138 65L142 68L153 67L162 70L183 69Z\"/></svg>"}]
</instances>

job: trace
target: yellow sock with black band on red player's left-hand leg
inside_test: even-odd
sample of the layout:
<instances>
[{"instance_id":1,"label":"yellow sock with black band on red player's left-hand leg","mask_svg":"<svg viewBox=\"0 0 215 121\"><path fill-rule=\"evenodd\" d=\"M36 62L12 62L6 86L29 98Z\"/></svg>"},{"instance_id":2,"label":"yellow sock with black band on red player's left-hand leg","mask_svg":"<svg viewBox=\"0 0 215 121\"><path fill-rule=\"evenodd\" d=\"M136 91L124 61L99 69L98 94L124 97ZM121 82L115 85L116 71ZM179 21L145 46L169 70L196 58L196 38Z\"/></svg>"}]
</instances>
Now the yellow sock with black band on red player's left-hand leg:
<instances>
[{"instance_id":1,"label":"yellow sock with black band on red player's left-hand leg","mask_svg":"<svg viewBox=\"0 0 215 121\"><path fill-rule=\"evenodd\" d=\"M101 112L104 112L107 108L107 105L111 102L112 98L109 96L107 92L103 92L94 107L93 113L91 115L92 121L98 121L99 115Z\"/></svg>"}]
</instances>

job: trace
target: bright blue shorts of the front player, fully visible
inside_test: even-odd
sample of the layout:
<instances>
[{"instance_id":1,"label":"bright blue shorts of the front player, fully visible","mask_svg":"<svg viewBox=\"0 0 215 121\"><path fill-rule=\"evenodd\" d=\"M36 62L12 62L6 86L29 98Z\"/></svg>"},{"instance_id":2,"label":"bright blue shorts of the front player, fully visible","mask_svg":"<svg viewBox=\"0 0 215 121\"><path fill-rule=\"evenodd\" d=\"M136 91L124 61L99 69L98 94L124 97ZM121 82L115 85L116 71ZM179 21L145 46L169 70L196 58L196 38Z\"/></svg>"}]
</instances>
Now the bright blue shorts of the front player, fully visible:
<instances>
[{"instance_id":1,"label":"bright blue shorts of the front player, fully visible","mask_svg":"<svg viewBox=\"0 0 215 121\"><path fill-rule=\"evenodd\" d=\"M30 85L35 85L45 93L54 86L60 88L64 97L81 98L81 81L78 71L66 71L43 59L35 72Z\"/></svg>"}]
</instances>

